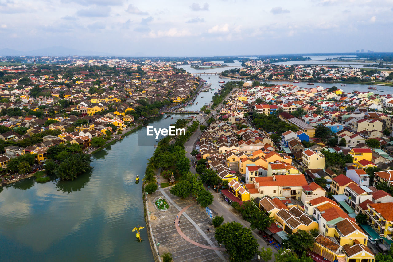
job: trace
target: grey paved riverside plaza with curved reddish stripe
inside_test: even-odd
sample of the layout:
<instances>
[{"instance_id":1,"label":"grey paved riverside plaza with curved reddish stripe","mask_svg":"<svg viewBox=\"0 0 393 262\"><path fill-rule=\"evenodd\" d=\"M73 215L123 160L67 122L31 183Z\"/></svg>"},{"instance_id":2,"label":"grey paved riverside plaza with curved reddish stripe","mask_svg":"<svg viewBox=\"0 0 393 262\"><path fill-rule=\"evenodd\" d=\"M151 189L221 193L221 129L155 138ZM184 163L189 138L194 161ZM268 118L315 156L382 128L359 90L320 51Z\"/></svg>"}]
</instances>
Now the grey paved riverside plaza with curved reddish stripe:
<instances>
[{"instance_id":1,"label":"grey paved riverside plaza with curved reddish stripe","mask_svg":"<svg viewBox=\"0 0 393 262\"><path fill-rule=\"evenodd\" d=\"M171 252L174 262L227 261L228 254L219 250L221 248L214 238L215 229L206 210L192 198L180 199L174 196L169 192L170 189L171 187L161 188L147 196L151 217L155 218L151 219L151 227L154 241L160 243L159 253ZM167 211L161 211L154 205L154 199L161 196L170 204ZM177 226L176 216L180 221L180 228ZM208 228L210 231L207 231Z\"/></svg>"}]
</instances>

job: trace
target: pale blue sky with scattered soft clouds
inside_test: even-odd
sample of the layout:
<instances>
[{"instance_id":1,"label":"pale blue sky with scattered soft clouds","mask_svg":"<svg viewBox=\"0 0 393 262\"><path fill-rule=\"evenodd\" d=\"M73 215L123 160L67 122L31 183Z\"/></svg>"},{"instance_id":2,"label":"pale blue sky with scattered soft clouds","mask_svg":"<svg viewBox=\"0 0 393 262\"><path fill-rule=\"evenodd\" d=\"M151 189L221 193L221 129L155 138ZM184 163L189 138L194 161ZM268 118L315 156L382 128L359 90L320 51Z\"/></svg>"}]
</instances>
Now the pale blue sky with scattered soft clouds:
<instances>
[{"instance_id":1,"label":"pale blue sky with scattered soft clouds","mask_svg":"<svg viewBox=\"0 0 393 262\"><path fill-rule=\"evenodd\" d=\"M0 49L113 55L393 52L393 0L0 0Z\"/></svg>"}]
</instances>

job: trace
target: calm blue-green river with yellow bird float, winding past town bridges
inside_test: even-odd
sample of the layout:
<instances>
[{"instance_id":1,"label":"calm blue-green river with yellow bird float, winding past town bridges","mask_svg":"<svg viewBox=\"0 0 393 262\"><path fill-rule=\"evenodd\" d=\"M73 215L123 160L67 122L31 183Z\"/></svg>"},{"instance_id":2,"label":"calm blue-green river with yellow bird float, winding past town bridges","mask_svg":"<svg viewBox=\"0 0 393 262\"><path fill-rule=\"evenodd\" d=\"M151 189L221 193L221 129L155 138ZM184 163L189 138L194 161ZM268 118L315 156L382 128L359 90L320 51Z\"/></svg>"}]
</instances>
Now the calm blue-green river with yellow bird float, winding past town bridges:
<instances>
[{"instance_id":1,"label":"calm blue-green river with yellow bird float, winding past town bridges","mask_svg":"<svg viewBox=\"0 0 393 262\"><path fill-rule=\"evenodd\" d=\"M216 77L213 86L218 87ZM196 98L198 105L190 105L189 110L200 109L212 96L202 92ZM190 115L172 116L146 123L167 128ZM94 170L74 181L41 184L28 178L4 187L0 192L2 260L153 261L146 228L141 230L142 243L131 232L138 224L145 226L142 181L136 184L135 177L143 178L153 144L156 139L146 136L144 126L94 154Z\"/></svg>"}]
</instances>

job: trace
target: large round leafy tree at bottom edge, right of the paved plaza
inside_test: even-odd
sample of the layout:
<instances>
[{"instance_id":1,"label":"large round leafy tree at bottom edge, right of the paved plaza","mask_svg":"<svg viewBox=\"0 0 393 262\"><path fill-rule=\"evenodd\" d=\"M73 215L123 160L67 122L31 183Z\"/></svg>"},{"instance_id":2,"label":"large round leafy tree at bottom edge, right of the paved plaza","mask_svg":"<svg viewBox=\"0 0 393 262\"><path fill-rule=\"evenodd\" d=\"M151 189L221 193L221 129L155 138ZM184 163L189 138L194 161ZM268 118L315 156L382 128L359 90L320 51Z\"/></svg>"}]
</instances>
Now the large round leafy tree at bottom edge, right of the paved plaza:
<instances>
[{"instance_id":1,"label":"large round leafy tree at bottom edge, right of the paved plaza","mask_svg":"<svg viewBox=\"0 0 393 262\"><path fill-rule=\"evenodd\" d=\"M240 223L225 223L216 229L214 236L219 244L225 245L231 262L249 261L259 253L259 244L251 230Z\"/></svg>"}]
</instances>

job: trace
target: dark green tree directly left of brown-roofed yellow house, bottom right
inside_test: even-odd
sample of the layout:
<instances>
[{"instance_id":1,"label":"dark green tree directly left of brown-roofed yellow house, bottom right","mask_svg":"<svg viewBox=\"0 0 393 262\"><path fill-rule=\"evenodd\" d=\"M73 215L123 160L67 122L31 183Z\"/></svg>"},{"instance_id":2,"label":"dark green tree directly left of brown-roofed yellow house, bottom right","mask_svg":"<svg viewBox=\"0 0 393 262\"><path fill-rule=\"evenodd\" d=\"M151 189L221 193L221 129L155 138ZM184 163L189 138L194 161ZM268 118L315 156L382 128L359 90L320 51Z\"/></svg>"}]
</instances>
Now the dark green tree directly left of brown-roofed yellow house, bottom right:
<instances>
[{"instance_id":1,"label":"dark green tree directly left of brown-roofed yellow house, bottom right","mask_svg":"<svg viewBox=\"0 0 393 262\"><path fill-rule=\"evenodd\" d=\"M286 239L283 240L283 247L301 255L303 251L312 248L314 246L314 242L314 237L312 237L307 231L299 229L294 234L288 234Z\"/></svg>"}]
</instances>

